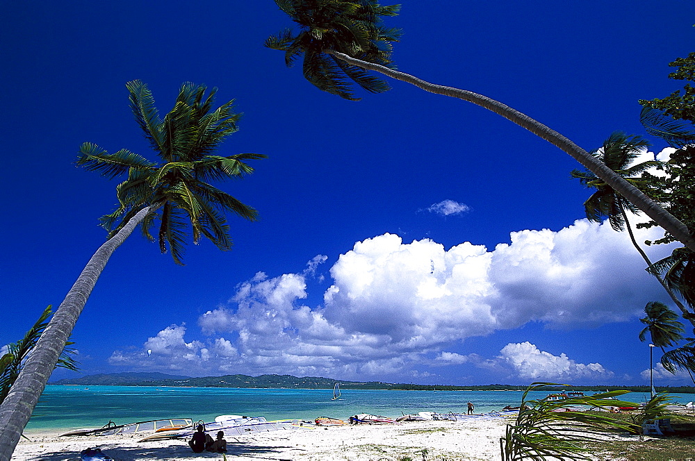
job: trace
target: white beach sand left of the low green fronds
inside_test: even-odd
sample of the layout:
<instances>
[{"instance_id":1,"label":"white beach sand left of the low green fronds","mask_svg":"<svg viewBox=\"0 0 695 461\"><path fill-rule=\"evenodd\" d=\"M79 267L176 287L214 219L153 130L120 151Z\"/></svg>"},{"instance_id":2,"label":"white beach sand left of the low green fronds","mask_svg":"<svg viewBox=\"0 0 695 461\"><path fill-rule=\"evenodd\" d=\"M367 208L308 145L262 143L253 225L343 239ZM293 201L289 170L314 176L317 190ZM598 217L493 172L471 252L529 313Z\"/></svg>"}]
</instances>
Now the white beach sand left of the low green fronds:
<instances>
[{"instance_id":1,"label":"white beach sand left of the low green fronds","mask_svg":"<svg viewBox=\"0 0 695 461\"><path fill-rule=\"evenodd\" d=\"M466 421L299 428L227 438L227 460L498 460L500 437L512 417ZM184 440L142 442L143 435L57 437L28 434L13 460L79 460L99 447L114 460L222 460L219 453L193 453Z\"/></svg>"}]
</instances>

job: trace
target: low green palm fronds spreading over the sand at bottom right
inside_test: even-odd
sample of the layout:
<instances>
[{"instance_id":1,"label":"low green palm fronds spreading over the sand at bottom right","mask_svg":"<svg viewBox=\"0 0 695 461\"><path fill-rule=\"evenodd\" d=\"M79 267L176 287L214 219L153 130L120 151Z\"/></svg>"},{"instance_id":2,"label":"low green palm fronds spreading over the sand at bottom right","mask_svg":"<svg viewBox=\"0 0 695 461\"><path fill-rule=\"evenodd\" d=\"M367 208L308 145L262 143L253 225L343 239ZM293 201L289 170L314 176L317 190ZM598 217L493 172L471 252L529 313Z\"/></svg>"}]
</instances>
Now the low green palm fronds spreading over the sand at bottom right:
<instances>
[{"instance_id":1,"label":"low green palm fronds spreading over the sand at bottom right","mask_svg":"<svg viewBox=\"0 0 695 461\"><path fill-rule=\"evenodd\" d=\"M578 406L608 409L633 405L614 399L629 391L602 392L563 400L527 400L530 391L548 385L562 384L532 383L524 392L516 421L507 425L505 437L500 438L502 461L542 461L548 458L589 460L586 444L597 440L600 428L632 428L632 424L617 421L608 413L573 410Z\"/></svg>"}]
</instances>

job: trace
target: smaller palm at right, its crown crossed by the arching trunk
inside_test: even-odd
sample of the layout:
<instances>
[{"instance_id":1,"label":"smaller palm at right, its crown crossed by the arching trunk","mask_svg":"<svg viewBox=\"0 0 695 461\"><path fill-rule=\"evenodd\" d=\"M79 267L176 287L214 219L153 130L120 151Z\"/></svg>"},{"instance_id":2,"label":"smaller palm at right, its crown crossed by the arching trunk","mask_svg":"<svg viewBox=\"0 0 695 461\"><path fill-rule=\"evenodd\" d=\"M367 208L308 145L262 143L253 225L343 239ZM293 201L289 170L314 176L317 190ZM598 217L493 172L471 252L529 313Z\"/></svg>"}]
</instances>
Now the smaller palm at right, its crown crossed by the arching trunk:
<instances>
[{"instance_id":1,"label":"smaller palm at right, its crown crossed by the arching trunk","mask_svg":"<svg viewBox=\"0 0 695 461\"><path fill-rule=\"evenodd\" d=\"M645 188L648 187L648 183L640 177L641 173L647 169L661 165L661 162L657 160L648 160L636 165L633 165L633 163L641 151L649 145L649 142L643 137L616 132L612 133L612 135L603 142L603 147L601 149L591 154L612 169L616 174L628 181L628 183L634 185L639 190L645 190ZM627 229L632 245L635 246L635 249L637 249L642 259L644 259L647 267L651 267L652 262L639 244L637 244L635 234L632 233L632 226L630 226L630 221L628 220L627 211L638 214L639 208L630 203L630 201L625 199L621 194L616 193L610 185L607 185L605 181L598 178L595 174L591 173L591 171L580 171L575 169L571 171L570 175L573 178L578 178L580 183L586 187L596 190L596 192L584 202L584 210L586 211L587 218L590 221L600 223L607 217L614 230L620 232ZM654 271L650 271L650 273L659 280L659 283L664 287L664 290L667 291L669 296L671 296L671 299L673 299L673 302L676 303L682 313L684 315L691 314L691 312L685 308L685 305L680 302L676 294L673 293L671 287L664 282L660 274ZM692 322L693 326L695 326L695 319L692 317L687 318Z\"/></svg>"}]
</instances>

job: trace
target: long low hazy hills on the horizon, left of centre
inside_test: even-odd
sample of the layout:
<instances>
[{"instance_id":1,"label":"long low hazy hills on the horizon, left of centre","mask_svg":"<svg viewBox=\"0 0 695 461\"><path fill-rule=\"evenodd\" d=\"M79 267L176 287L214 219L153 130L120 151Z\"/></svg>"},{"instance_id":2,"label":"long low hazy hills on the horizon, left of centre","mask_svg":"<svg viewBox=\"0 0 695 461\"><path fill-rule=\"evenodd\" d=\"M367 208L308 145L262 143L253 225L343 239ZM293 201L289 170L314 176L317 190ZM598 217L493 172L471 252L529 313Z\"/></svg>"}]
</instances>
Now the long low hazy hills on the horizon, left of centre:
<instances>
[{"instance_id":1,"label":"long low hazy hills on the horizon, left of centre","mask_svg":"<svg viewBox=\"0 0 695 461\"><path fill-rule=\"evenodd\" d=\"M204 376L172 376L163 373L111 373L82 376L81 378L61 379L51 384L71 385L103 385L103 386L173 386L173 387L286 387L294 389L332 389L336 383L341 383L343 389L391 389L393 384L370 381L338 381L331 378L304 376L297 378L291 375L226 375Z\"/></svg>"}]
</instances>

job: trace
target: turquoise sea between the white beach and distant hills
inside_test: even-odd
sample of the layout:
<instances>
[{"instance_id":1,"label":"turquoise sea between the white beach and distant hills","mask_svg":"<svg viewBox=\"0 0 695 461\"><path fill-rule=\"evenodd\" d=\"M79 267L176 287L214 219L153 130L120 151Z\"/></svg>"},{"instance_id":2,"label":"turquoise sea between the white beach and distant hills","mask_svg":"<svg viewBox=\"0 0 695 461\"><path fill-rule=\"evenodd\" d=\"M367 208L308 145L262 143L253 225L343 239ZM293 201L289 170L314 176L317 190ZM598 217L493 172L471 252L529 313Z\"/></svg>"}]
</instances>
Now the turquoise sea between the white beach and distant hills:
<instances>
[{"instance_id":1,"label":"turquoise sea between the white beach and distant hills","mask_svg":"<svg viewBox=\"0 0 695 461\"><path fill-rule=\"evenodd\" d=\"M101 427L165 418L213 421L220 414L272 419L312 420L320 416L346 419L370 413L398 417L420 411L475 412L517 406L523 392L515 391L391 391L343 389L333 401L333 389L236 389L218 387L133 387L49 385L26 430ZM533 399L547 392L531 392ZM695 401L695 394L672 394L675 401ZM624 400L643 402L647 394L631 392Z\"/></svg>"}]
</instances>

